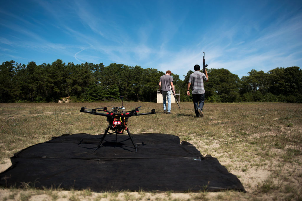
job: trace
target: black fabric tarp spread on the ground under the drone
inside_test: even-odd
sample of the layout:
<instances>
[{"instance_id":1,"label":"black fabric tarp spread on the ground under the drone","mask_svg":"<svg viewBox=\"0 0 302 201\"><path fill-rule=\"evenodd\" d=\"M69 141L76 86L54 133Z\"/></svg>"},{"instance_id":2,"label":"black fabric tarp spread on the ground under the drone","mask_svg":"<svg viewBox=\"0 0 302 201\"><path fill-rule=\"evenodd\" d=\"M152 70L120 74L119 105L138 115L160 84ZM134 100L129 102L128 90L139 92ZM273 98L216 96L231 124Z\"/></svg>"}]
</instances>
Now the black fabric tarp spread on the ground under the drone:
<instances>
[{"instance_id":1,"label":"black fabric tarp spread on the ground under the drone","mask_svg":"<svg viewBox=\"0 0 302 201\"><path fill-rule=\"evenodd\" d=\"M245 192L239 179L216 158L203 157L190 143L167 134L128 135L85 133L62 135L27 147L11 157L0 174L3 187L63 188L104 191L220 191Z\"/></svg>"}]
</instances>

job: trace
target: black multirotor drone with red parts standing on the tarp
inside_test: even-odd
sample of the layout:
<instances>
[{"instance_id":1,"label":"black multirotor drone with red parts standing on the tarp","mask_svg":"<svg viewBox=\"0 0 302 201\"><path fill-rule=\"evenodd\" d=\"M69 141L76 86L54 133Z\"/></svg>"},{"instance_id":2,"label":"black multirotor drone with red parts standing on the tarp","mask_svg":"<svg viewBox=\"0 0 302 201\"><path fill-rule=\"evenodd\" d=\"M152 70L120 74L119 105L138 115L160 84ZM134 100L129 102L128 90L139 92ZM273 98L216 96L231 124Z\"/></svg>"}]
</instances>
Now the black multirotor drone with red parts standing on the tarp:
<instances>
[{"instance_id":1,"label":"black multirotor drone with red parts standing on the tarp","mask_svg":"<svg viewBox=\"0 0 302 201\"><path fill-rule=\"evenodd\" d=\"M109 133L109 129L112 130L113 133L116 134L116 141L117 141L117 134L122 134L124 130L127 131L128 136L134 146L135 152L137 152L137 145L134 143L129 128L127 127L128 125L128 118L131 116L140 116L140 115L148 115L148 114L155 114L155 109L151 110L151 112L148 113L138 113L140 107L135 108L134 110L125 111L125 108L122 107L113 107L111 111L107 110L107 107L102 107L102 108L96 108L96 109L88 109L85 107L81 107L80 112L84 112L84 113L90 113L90 114L94 114L94 115L99 115L99 116L106 116L107 117L107 122L109 123L109 125L107 126L103 137L101 138L100 143L98 144L98 148L101 147L102 142L104 141L105 136L107 135L107 133ZM100 110L102 109L102 110ZM106 113L100 113L98 111L103 111ZM111 133L109 133L111 134Z\"/></svg>"}]
</instances>

